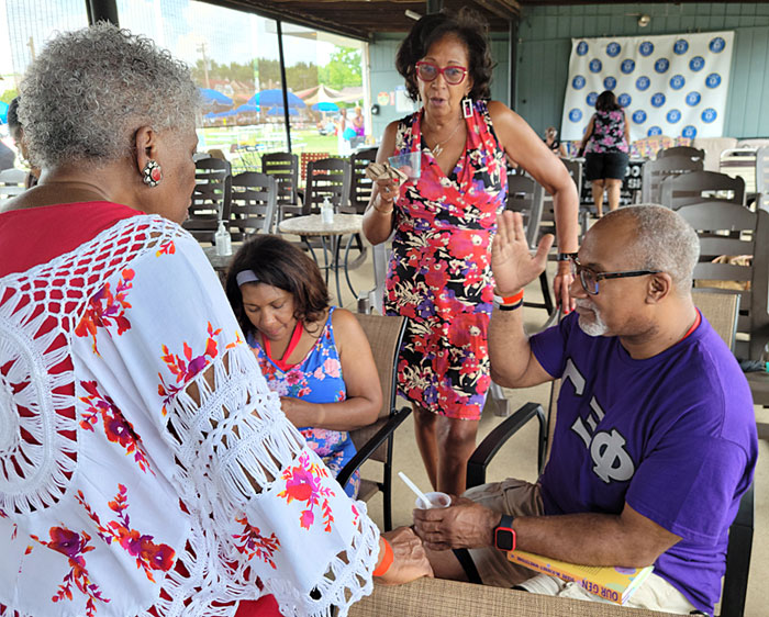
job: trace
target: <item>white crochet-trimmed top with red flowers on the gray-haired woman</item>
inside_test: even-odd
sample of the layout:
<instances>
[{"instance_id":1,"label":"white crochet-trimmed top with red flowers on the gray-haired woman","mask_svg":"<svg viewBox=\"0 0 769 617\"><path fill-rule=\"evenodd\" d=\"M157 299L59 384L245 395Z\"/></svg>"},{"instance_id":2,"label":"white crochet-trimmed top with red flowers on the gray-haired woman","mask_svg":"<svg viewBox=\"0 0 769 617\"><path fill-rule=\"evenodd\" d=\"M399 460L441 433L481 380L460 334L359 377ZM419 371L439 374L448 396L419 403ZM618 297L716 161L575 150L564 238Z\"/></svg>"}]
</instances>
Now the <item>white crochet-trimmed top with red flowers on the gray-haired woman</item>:
<instances>
[{"instance_id":1,"label":"white crochet-trimmed top with red flowers on the gray-haired woman","mask_svg":"<svg viewBox=\"0 0 769 617\"><path fill-rule=\"evenodd\" d=\"M78 207L0 214L0 258L14 221ZM0 615L232 617L265 594L346 614L378 537L280 412L181 227L132 214L0 278Z\"/></svg>"}]
</instances>

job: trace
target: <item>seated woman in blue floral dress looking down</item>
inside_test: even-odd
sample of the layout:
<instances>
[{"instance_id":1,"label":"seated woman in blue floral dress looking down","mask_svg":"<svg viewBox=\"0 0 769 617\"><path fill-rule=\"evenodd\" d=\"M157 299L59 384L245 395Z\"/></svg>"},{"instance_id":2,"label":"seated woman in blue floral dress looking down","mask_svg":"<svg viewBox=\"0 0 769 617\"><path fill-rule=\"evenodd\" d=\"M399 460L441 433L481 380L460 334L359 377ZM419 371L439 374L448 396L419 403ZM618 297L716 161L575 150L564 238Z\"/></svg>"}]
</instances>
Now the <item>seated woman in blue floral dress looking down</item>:
<instances>
[{"instance_id":1,"label":"seated woman in blue floral dress looking down","mask_svg":"<svg viewBox=\"0 0 769 617\"><path fill-rule=\"evenodd\" d=\"M382 404L360 324L349 311L330 306L315 262L278 236L243 245L226 292L283 413L337 475L356 451L347 431L374 423ZM350 497L359 482L356 473L344 487Z\"/></svg>"}]
</instances>

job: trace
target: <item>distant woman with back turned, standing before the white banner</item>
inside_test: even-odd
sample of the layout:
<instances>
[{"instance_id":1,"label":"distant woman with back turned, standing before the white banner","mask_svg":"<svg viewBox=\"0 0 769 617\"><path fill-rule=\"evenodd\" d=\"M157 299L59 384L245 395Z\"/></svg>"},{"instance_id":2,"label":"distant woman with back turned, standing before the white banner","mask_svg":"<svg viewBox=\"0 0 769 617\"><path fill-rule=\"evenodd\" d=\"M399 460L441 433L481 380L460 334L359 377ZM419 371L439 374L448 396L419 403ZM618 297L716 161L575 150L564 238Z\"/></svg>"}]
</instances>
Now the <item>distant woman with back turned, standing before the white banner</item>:
<instances>
[{"instance_id":1,"label":"distant woman with back turned, standing before the white banner","mask_svg":"<svg viewBox=\"0 0 769 617\"><path fill-rule=\"evenodd\" d=\"M620 190L627 172L629 141L627 117L614 92L601 92L580 146L580 152L584 152L584 175L591 183L599 218L603 216L604 191L609 193L609 210L620 207Z\"/></svg>"}]
</instances>

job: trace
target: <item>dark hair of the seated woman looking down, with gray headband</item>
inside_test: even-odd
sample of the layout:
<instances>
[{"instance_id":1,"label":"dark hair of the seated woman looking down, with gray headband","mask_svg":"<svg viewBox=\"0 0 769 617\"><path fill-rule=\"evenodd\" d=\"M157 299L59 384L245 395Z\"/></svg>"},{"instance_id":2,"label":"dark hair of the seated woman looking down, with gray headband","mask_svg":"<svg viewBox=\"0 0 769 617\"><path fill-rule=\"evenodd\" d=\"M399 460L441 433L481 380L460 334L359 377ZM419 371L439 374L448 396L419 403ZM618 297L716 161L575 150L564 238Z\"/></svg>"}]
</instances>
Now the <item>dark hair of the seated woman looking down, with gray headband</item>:
<instances>
[{"instance_id":1,"label":"dark hair of the seated woman looking down, with gray headband","mask_svg":"<svg viewBox=\"0 0 769 617\"><path fill-rule=\"evenodd\" d=\"M293 316L300 322L315 322L328 306L328 288L317 265L301 249L280 236L259 234L244 243L227 270L225 291L233 312L245 334L254 325L243 308L237 284L238 272L250 270L258 282L282 289L293 295Z\"/></svg>"}]
</instances>

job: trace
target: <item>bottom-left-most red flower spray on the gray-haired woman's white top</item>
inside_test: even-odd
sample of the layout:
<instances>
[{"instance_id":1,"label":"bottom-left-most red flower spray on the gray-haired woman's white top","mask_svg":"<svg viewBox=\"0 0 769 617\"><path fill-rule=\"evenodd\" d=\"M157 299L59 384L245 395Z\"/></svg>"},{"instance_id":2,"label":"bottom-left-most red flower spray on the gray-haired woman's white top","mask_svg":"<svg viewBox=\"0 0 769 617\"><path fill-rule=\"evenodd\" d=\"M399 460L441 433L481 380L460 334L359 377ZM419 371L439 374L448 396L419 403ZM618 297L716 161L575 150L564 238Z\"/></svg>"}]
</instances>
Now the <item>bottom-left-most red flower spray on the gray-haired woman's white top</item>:
<instances>
[{"instance_id":1,"label":"bottom-left-most red flower spray on the gray-haired woman's white top","mask_svg":"<svg viewBox=\"0 0 769 617\"><path fill-rule=\"evenodd\" d=\"M73 584L88 599L86 601L86 615L93 617L97 612L96 601L110 602L101 595L96 583L91 583L88 570L86 569L86 560L82 557L85 553L93 550L94 547L88 546L91 537L86 531L76 534L66 527L52 527L48 530L51 541L41 540L37 536L30 536L36 542L44 547L60 552L69 562L69 573L64 576L64 582L58 586L58 592L51 599L59 602L62 599L73 599ZM27 547L26 552L31 552Z\"/></svg>"}]
</instances>

